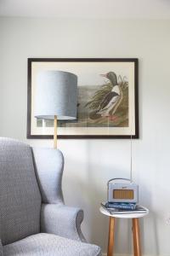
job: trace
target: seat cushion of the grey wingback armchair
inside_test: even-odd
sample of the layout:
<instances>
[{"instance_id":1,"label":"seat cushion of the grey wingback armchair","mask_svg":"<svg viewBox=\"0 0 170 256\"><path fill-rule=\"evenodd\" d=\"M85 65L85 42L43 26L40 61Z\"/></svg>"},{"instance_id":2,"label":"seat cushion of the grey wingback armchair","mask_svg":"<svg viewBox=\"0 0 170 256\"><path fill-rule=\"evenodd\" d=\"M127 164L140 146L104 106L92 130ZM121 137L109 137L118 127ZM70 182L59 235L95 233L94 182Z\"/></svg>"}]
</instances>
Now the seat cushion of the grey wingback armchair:
<instances>
[{"instance_id":1,"label":"seat cushion of the grey wingback armchair","mask_svg":"<svg viewBox=\"0 0 170 256\"><path fill-rule=\"evenodd\" d=\"M61 236L40 233L3 247L4 256L99 256L100 248Z\"/></svg>"}]
</instances>

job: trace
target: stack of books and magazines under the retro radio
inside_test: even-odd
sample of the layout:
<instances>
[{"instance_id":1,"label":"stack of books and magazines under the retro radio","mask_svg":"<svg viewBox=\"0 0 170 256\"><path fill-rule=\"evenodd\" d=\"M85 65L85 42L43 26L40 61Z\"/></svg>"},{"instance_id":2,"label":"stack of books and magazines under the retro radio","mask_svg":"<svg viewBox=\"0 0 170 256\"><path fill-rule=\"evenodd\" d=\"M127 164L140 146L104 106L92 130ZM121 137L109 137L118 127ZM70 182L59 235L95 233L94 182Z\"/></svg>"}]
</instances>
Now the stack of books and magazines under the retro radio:
<instances>
[{"instance_id":1,"label":"stack of books and magazines under the retro radio","mask_svg":"<svg viewBox=\"0 0 170 256\"><path fill-rule=\"evenodd\" d=\"M101 206L110 214L145 213L147 211L135 203L102 202Z\"/></svg>"}]
</instances>

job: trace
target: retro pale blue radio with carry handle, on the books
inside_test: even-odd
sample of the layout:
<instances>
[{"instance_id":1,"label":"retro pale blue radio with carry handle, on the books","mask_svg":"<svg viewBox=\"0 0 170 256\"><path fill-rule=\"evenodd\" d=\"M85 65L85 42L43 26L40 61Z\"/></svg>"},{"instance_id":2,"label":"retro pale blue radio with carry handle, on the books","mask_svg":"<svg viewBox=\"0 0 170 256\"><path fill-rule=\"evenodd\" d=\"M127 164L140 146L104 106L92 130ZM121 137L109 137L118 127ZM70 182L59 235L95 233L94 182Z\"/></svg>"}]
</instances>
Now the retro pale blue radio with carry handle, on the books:
<instances>
[{"instance_id":1,"label":"retro pale blue radio with carry handle, on the books","mask_svg":"<svg viewBox=\"0 0 170 256\"><path fill-rule=\"evenodd\" d=\"M118 180L124 182L116 183ZM111 183L112 181L115 182ZM108 181L107 185L109 202L138 203L139 186L130 179L122 177L112 178Z\"/></svg>"}]
</instances>

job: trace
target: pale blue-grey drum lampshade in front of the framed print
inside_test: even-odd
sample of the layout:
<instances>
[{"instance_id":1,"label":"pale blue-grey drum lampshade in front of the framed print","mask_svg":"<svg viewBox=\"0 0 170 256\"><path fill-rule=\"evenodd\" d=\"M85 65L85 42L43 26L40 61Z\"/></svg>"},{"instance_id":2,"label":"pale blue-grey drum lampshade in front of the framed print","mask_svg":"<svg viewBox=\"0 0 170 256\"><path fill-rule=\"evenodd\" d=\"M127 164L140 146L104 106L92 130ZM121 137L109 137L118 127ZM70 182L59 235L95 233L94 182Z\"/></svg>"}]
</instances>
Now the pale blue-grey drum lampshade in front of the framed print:
<instances>
[{"instance_id":1,"label":"pale blue-grey drum lampshade in front of the framed print","mask_svg":"<svg viewBox=\"0 0 170 256\"><path fill-rule=\"evenodd\" d=\"M77 119L77 75L45 71L37 75L35 117L37 119Z\"/></svg>"}]
</instances>

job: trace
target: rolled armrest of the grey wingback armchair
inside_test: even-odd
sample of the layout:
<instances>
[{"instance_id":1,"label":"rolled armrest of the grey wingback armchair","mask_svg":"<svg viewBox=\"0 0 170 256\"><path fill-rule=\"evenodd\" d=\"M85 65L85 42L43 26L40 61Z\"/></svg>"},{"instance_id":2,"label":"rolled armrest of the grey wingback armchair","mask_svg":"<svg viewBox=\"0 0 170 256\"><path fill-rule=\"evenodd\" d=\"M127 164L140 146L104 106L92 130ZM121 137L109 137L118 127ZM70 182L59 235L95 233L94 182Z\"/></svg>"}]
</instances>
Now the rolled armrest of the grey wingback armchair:
<instances>
[{"instance_id":1,"label":"rolled armrest of the grey wingback armchair","mask_svg":"<svg viewBox=\"0 0 170 256\"><path fill-rule=\"evenodd\" d=\"M86 241L82 235L83 212L79 208L57 204L42 204L41 232Z\"/></svg>"}]
</instances>

